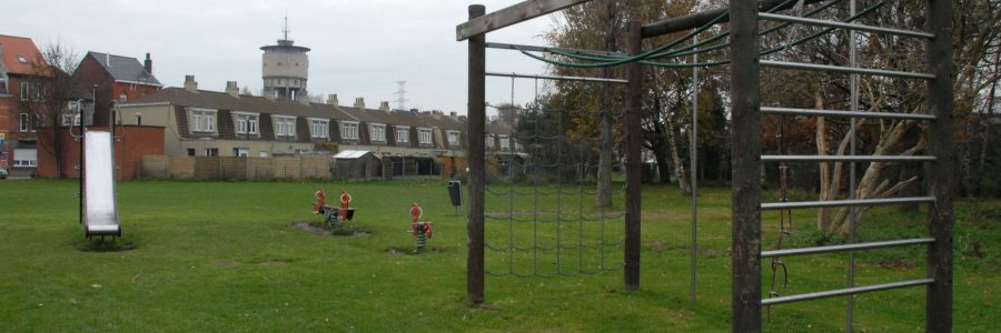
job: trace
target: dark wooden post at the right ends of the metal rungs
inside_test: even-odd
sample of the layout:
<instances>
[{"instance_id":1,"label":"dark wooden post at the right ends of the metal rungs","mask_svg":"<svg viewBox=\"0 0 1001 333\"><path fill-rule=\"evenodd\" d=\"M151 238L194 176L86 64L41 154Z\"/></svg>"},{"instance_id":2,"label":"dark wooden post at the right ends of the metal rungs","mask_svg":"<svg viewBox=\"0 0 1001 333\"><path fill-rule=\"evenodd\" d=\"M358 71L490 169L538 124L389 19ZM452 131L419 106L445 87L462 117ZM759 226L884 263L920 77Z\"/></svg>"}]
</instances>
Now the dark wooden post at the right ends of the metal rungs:
<instances>
[{"instance_id":1,"label":"dark wooden post at the right ends of the metal rungs","mask_svg":"<svg viewBox=\"0 0 1001 333\"><path fill-rule=\"evenodd\" d=\"M929 123L928 150L936 158L928 163L925 178L935 202L928 208L928 234L935 242L928 246L928 285L924 321L928 332L952 332L952 196L955 193L955 161L952 144L952 11L951 0L928 0L928 32L935 37L928 43L926 67L934 80L928 82L929 111L935 120Z\"/></svg>"}]
</instances>

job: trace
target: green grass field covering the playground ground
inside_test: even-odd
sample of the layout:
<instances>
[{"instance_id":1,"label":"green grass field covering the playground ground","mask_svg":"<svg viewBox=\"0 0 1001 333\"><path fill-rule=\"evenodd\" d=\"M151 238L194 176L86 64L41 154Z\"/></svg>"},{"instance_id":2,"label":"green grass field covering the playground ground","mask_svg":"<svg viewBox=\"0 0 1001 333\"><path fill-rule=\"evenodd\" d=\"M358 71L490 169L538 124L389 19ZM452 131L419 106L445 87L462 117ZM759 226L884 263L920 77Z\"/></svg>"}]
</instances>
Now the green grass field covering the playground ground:
<instances>
[{"instance_id":1,"label":"green grass field covering the playground ground","mask_svg":"<svg viewBox=\"0 0 1001 333\"><path fill-rule=\"evenodd\" d=\"M349 224L365 236L323 236L293 226L320 221L310 202L317 188L341 188L357 209ZM359 332L722 332L730 330L730 194L700 196L697 304L688 303L690 199L673 188L643 193L641 290L623 290L621 218L599 222L531 224L488 220L482 307L465 302L466 228L442 181L366 183L160 182L119 183L123 241L130 251L81 251L77 183L0 182L0 331L359 331ZM531 191L532 189L519 189ZM506 196L488 195L487 210L506 212ZM541 212L598 213L591 199L519 196L516 216ZM413 248L408 208L418 201L435 224L430 252ZM622 198L616 198L621 208ZM557 205L558 203L558 205ZM609 212L611 214L611 212ZM796 211L786 248L817 243L815 213ZM614 218L614 216L613 216ZM957 332L997 331L1001 317L1001 202L958 201L954 325ZM775 241L774 214L763 220L763 248ZM860 239L923 235L924 214L874 210ZM556 236L559 241L556 241ZM583 246L606 243L606 246ZM602 260L604 255L604 260ZM558 258L557 258L558 256ZM558 261L557 261L558 260ZM845 255L789 258L784 294L843 287ZM856 255L858 284L924 276L922 246ZM602 268L612 271L597 274ZM765 291L771 278L762 274ZM860 332L914 332L924 324L924 289L859 295ZM836 332L845 299L779 305L765 331Z\"/></svg>"}]
</instances>

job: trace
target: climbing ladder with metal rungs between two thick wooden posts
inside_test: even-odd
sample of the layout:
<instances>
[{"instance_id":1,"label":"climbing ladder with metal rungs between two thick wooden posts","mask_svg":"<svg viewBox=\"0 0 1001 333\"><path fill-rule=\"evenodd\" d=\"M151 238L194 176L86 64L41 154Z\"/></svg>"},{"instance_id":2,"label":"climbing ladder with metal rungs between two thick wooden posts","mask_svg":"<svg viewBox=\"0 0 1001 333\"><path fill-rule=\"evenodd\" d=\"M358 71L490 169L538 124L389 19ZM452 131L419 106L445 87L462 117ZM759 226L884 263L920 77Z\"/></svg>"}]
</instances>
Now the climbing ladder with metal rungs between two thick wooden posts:
<instances>
[{"instance_id":1,"label":"climbing ladder with metal rungs between two thick wooden posts","mask_svg":"<svg viewBox=\"0 0 1001 333\"><path fill-rule=\"evenodd\" d=\"M926 1L926 32L902 31L880 27L866 27L802 19L771 13L759 13L754 1L732 0L731 19L731 94L733 101L731 142L733 143L733 331L761 331L762 306L799 302L839 295L854 295L889 289L920 286L926 287L925 330L950 332L952 329L952 193L954 188L952 151L952 2L948 0ZM928 40L926 73L910 73L879 69L863 69L855 65L833 67L809 63L759 61L757 27L760 19L834 27L873 33L889 33L924 38ZM809 71L831 71L862 75L884 75L926 80L930 114L869 113L858 110L803 110L787 108L762 108L760 68L777 68ZM853 83L855 79L852 80ZM853 84L854 85L854 84ZM854 100L854 99L853 99ZM854 102L853 102L854 104ZM925 137L929 140L926 157L800 157L761 154L761 115L787 114L810 117L913 119L928 122ZM854 123L854 122L853 122ZM854 199L815 202L761 202L760 170L765 161L842 161L872 162L900 161L923 162L934 175L928 179L928 196L895 199ZM853 190L853 189L852 189ZM928 204L928 238L895 240L811 249L787 249L761 251L761 211L827 206L859 206L899 203ZM926 245L928 275L924 279L891 282L884 284L854 286L806 294L762 297L761 260L783 255L806 255L827 252L849 252L889 246ZM851 256L850 256L851 258ZM850 266L852 265L850 259ZM852 275L850 268L849 275ZM851 330L851 299L849 299L849 330Z\"/></svg>"}]
</instances>

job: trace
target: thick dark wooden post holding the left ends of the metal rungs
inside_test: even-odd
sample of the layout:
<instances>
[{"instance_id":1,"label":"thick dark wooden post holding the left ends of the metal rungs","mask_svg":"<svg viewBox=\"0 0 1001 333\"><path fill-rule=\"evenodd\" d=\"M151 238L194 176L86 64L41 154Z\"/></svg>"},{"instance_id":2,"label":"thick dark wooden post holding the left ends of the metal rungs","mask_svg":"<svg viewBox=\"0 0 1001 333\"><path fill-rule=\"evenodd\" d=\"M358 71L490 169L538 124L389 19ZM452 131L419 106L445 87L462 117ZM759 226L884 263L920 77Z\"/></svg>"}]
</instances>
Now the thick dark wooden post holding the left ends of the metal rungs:
<instances>
[{"instance_id":1,"label":"thick dark wooden post holding the left ends of the metal rungs","mask_svg":"<svg viewBox=\"0 0 1001 333\"><path fill-rule=\"evenodd\" d=\"M733 332L761 332L761 68L757 1L730 0Z\"/></svg>"}]
</instances>

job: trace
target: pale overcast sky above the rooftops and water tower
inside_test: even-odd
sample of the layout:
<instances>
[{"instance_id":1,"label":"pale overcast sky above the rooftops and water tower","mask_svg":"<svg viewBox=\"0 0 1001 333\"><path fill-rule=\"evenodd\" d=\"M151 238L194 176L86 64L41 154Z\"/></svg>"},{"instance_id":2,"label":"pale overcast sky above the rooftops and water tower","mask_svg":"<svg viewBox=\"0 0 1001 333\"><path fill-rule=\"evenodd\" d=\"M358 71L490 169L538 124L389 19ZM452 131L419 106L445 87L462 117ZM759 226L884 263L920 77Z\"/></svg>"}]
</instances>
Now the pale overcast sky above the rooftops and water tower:
<instances>
[{"instance_id":1,"label":"pale overcast sky above the rooftops and water tower","mask_svg":"<svg viewBox=\"0 0 1001 333\"><path fill-rule=\"evenodd\" d=\"M39 48L62 43L139 59L152 54L153 74L168 87L195 75L199 89L222 91L237 81L261 89L260 47L275 44L288 16L289 39L313 49L309 93L337 93L341 104L390 101L406 80L406 108L466 113L466 43L455 40L467 7L487 12L521 0L12 0L0 33L28 37ZM12 2L12 3L10 3ZM552 17L487 36L487 41L546 44ZM487 51L487 71L543 73L546 67L515 51ZM511 80L487 78L487 102L512 100ZM534 98L535 82L518 80L516 103ZM487 109L487 112L495 112Z\"/></svg>"}]
</instances>

